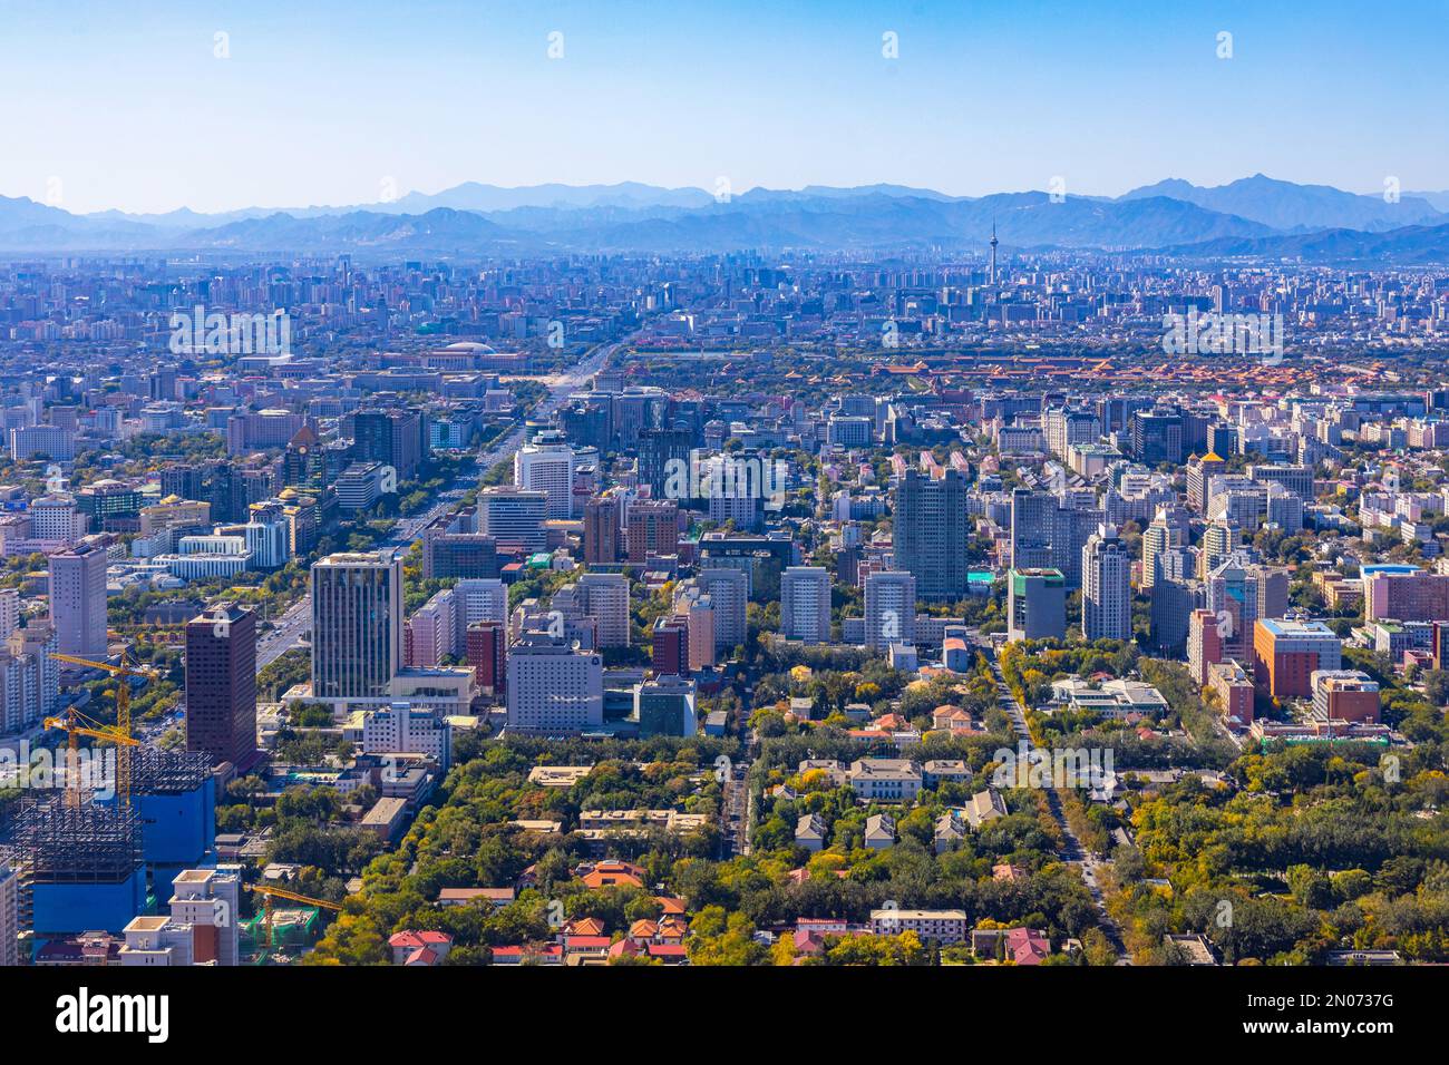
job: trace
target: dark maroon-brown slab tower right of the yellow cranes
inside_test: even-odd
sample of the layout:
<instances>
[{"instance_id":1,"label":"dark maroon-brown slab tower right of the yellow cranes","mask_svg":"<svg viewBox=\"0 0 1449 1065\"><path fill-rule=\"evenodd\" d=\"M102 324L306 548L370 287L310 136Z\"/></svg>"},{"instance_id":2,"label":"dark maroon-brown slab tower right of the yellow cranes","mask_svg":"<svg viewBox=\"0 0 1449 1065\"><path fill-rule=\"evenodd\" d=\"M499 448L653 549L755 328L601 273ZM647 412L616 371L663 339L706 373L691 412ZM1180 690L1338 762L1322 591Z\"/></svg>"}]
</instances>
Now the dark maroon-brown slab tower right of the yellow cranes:
<instances>
[{"instance_id":1,"label":"dark maroon-brown slab tower right of the yellow cranes","mask_svg":"<svg viewBox=\"0 0 1449 1065\"><path fill-rule=\"evenodd\" d=\"M256 753L256 614L236 603L185 626L185 746L236 767Z\"/></svg>"}]
</instances>

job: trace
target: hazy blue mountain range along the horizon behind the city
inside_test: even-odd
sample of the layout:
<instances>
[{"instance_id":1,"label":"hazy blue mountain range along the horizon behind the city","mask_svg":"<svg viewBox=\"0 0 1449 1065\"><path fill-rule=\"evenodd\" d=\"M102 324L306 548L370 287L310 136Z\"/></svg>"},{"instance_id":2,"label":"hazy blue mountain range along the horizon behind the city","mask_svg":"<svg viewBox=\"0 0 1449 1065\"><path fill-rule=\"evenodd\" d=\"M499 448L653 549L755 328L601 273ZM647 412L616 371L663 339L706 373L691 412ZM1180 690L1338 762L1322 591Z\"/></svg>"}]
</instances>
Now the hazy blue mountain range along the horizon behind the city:
<instances>
[{"instance_id":1,"label":"hazy blue mountain range along the horizon behind the city","mask_svg":"<svg viewBox=\"0 0 1449 1065\"><path fill-rule=\"evenodd\" d=\"M362 256L704 254L769 251L1158 251L1177 258L1449 262L1449 193L1398 197L1300 185L1262 174L1201 187L1169 178L1119 197L948 196L877 184L701 188L464 183L351 206L248 207L217 214L72 214L0 197L0 252L333 254Z\"/></svg>"}]
</instances>

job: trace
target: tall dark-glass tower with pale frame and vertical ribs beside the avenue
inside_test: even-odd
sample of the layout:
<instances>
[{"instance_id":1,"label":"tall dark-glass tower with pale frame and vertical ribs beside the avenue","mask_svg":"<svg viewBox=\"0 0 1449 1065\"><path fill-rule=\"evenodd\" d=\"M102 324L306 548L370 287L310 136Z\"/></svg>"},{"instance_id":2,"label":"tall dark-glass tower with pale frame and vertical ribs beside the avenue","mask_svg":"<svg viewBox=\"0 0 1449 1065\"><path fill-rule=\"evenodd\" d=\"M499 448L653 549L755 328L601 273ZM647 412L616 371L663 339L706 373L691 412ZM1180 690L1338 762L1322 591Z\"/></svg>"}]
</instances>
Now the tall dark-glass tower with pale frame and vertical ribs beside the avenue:
<instances>
[{"instance_id":1,"label":"tall dark-glass tower with pale frame and vertical ribs beside the avenue","mask_svg":"<svg viewBox=\"0 0 1449 1065\"><path fill-rule=\"evenodd\" d=\"M312 694L378 700L403 665L403 561L327 555L312 567Z\"/></svg>"}]
</instances>

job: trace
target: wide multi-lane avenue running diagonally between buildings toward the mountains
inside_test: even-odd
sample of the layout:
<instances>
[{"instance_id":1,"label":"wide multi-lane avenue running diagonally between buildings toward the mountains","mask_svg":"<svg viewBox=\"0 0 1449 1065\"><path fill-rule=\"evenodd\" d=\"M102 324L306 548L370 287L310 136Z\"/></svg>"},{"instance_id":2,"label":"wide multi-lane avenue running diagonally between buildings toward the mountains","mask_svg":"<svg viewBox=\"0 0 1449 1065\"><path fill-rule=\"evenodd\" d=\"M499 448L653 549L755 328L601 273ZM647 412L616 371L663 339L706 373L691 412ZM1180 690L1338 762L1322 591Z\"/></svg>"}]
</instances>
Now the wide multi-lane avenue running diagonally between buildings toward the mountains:
<instances>
[{"instance_id":1,"label":"wide multi-lane avenue running diagonally between buildings toward the mountains","mask_svg":"<svg viewBox=\"0 0 1449 1065\"><path fill-rule=\"evenodd\" d=\"M564 400L580 388L590 377L597 374L619 348L626 342L606 343L590 352L582 362L564 374L549 380L549 394L533 410L529 417L543 417L558 410ZM422 536L423 530L443 517L449 517L461 507L462 496L477 487L483 477L498 462L513 458L513 454L523 446L523 422L494 440L478 455L477 468L465 468L448 488L438 493L438 501L420 514L400 519L381 545L380 551L391 551L393 555L404 554L413 540ZM261 672L293 648L301 646L301 638L312 629L312 593L309 591L280 617L272 619L274 629L256 640L256 671Z\"/></svg>"}]
</instances>

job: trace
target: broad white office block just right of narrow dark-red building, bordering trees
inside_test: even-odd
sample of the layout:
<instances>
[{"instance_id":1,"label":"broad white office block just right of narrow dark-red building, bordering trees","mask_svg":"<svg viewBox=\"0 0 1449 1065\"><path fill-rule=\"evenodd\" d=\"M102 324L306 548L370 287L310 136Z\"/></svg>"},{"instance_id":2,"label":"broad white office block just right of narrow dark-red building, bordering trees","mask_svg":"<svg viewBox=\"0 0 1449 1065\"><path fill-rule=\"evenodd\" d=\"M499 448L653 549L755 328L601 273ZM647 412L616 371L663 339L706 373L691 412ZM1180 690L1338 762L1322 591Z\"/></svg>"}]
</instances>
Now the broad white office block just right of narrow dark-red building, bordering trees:
<instances>
[{"instance_id":1,"label":"broad white office block just right of narrow dark-red building, bordering trees","mask_svg":"<svg viewBox=\"0 0 1449 1065\"><path fill-rule=\"evenodd\" d=\"M569 733L604 722L604 659L572 640L525 632L509 648L509 727Z\"/></svg>"}]
</instances>

